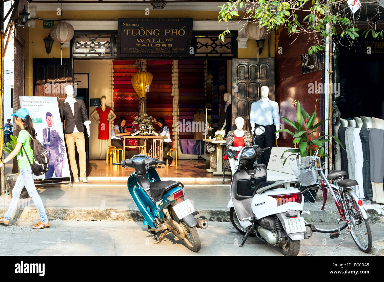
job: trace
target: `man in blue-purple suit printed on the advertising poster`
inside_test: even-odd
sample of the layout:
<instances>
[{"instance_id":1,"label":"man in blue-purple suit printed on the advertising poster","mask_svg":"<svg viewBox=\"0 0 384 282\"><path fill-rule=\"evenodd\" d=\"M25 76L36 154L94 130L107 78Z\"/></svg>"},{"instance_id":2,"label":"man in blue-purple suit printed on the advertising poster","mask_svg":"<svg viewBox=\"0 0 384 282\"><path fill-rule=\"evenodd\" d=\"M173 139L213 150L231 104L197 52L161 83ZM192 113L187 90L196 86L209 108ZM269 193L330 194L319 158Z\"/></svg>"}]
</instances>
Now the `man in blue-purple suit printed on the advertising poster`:
<instances>
[{"instance_id":1,"label":"man in blue-purple suit printed on the advertising poster","mask_svg":"<svg viewBox=\"0 0 384 282\"><path fill-rule=\"evenodd\" d=\"M55 172L56 177L61 177L61 164L65 155L64 140L53 128L53 116L50 112L45 114L45 120L47 122L47 127L43 129L43 146L47 149L49 158L48 170L45 177L52 177L53 172Z\"/></svg>"}]
</instances>

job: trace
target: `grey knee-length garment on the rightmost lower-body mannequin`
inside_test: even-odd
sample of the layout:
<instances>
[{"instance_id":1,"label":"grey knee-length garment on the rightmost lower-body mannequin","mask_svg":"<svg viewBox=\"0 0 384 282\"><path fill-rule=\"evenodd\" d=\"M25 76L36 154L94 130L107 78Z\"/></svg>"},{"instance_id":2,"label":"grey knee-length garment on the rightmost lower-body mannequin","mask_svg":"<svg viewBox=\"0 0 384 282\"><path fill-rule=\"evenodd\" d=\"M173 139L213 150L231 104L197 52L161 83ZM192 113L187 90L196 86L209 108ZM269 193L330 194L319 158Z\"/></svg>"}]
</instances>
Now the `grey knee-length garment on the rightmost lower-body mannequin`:
<instances>
[{"instance_id":1,"label":"grey knee-length garment on the rightmost lower-body mannequin","mask_svg":"<svg viewBox=\"0 0 384 282\"><path fill-rule=\"evenodd\" d=\"M372 128L369 133L371 155L371 181L383 183L384 178L384 130Z\"/></svg>"}]
</instances>

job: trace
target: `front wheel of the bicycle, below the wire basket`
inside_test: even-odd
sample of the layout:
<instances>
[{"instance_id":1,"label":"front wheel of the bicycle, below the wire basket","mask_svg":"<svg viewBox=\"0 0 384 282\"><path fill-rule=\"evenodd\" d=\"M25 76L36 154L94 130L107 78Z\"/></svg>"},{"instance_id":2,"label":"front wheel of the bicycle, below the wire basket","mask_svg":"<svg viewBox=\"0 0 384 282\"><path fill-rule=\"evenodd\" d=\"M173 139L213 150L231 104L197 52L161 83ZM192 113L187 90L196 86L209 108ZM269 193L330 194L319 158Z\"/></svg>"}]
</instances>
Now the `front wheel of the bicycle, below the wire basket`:
<instances>
[{"instance_id":1,"label":"front wheel of the bicycle, below the wire basket","mask_svg":"<svg viewBox=\"0 0 384 282\"><path fill-rule=\"evenodd\" d=\"M326 202L323 208L323 190L319 185L301 187L300 191L304 198L304 208L301 216L303 216L307 224L313 224L317 232L333 233L339 230L337 219L340 218L340 213L333 200L332 194L329 192L328 187L326 188ZM335 195L337 195L337 190L335 188L332 189ZM340 230L346 228L347 225L347 223L341 222L339 226Z\"/></svg>"}]
</instances>

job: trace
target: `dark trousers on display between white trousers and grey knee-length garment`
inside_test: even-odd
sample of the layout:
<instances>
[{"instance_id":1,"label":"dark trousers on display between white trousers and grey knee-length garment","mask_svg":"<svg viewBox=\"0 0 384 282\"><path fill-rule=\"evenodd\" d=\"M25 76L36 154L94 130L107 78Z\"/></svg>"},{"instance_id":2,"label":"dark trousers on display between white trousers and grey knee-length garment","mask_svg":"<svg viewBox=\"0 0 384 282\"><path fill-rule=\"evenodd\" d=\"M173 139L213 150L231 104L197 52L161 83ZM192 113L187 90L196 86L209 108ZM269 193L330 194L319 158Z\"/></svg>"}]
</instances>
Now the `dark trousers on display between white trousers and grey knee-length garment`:
<instances>
[{"instance_id":1,"label":"dark trousers on display between white trousers and grey knee-length garment","mask_svg":"<svg viewBox=\"0 0 384 282\"><path fill-rule=\"evenodd\" d=\"M372 201L372 183L371 183L371 154L369 152L369 132L366 127L360 130L360 140L362 146L362 155L364 161L362 163L362 181L364 188L364 196Z\"/></svg>"}]
</instances>

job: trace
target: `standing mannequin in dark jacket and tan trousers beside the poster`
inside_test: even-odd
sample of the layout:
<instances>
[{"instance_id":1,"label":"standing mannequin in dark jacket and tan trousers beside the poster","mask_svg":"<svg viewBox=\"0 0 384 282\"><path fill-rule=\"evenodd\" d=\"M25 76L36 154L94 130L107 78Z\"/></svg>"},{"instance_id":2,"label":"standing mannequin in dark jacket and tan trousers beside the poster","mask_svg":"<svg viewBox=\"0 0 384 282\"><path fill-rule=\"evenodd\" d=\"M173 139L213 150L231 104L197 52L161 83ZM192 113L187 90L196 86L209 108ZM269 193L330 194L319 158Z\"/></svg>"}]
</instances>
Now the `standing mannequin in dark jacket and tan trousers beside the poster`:
<instances>
[{"instance_id":1,"label":"standing mannequin in dark jacket and tan trousers beside the poster","mask_svg":"<svg viewBox=\"0 0 384 282\"><path fill-rule=\"evenodd\" d=\"M78 168L74 155L74 143L76 143L77 152L79 153L79 166L80 166L80 179L83 182L88 182L86 179L85 171L86 156L85 156L85 139L84 139L84 127L85 125L88 133L88 137L91 136L89 130L89 124L91 121L88 118L88 112L85 107L84 101L75 99L73 97L72 85L65 87L65 93L67 97L59 104L61 121L65 121L64 134L68 147L68 155L70 157L71 170L73 173L74 182L79 182Z\"/></svg>"}]
</instances>

